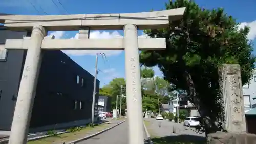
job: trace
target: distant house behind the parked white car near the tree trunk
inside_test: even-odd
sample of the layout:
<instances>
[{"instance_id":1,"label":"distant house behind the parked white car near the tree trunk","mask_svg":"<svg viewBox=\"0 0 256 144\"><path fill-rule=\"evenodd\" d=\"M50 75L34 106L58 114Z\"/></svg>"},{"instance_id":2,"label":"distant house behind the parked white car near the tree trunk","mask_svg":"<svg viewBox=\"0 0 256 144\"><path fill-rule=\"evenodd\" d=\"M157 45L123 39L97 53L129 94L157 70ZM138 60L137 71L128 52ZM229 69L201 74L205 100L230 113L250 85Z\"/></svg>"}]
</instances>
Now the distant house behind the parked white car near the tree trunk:
<instances>
[{"instance_id":1,"label":"distant house behind the parked white car near the tree trunk","mask_svg":"<svg viewBox=\"0 0 256 144\"><path fill-rule=\"evenodd\" d=\"M169 112L176 114L177 106L180 109L186 109L189 116L200 116L196 107L188 100L186 100L186 94L179 94L179 99L177 104L177 98L169 102Z\"/></svg>"}]
</instances>

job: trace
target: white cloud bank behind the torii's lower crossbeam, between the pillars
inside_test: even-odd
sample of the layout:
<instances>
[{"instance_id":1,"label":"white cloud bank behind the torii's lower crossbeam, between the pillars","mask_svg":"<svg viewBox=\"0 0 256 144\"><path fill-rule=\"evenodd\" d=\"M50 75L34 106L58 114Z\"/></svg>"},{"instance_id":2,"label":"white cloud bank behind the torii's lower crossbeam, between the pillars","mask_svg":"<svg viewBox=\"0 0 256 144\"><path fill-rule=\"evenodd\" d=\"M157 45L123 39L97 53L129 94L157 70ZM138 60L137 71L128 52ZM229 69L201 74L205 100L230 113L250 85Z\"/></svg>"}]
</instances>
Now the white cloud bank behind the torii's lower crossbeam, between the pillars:
<instances>
[{"instance_id":1,"label":"white cloud bank behind the torii's lower crossbeam, between the pillars","mask_svg":"<svg viewBox=\"0 0 256 144\"><path fill-rule=\"evenodd\" d=\"M78 33L71 39L78 39ZM90 33L90 39L111 39L111 38L122 38L117 31L112 33L103 31L92 31ZM68 55L82 56L82 55L96 55L97 53L105 53L106 56L119 55L122 50L65 50L63 51Z\"/></svg>"}]
</instances>

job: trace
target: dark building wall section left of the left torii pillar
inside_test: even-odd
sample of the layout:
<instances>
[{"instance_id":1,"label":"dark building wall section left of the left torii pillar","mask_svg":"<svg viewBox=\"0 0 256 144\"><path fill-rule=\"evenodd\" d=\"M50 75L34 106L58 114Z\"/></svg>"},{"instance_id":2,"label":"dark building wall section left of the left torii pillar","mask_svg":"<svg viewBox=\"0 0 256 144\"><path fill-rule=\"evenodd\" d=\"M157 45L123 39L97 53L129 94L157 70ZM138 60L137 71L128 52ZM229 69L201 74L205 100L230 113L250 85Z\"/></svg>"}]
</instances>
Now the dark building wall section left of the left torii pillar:
<instances>
[{"instance_id":1,"label":"dark building wall section left of the left torii pillar","mask_svg":"<svg viewBox=\"0 0 256 144\"><path fill-rule=\"evenodd\" d=\"M0 130L11 128L23 56L23 50L9 50L7 61L0 61Z\"/></svg>"}]
</instances>

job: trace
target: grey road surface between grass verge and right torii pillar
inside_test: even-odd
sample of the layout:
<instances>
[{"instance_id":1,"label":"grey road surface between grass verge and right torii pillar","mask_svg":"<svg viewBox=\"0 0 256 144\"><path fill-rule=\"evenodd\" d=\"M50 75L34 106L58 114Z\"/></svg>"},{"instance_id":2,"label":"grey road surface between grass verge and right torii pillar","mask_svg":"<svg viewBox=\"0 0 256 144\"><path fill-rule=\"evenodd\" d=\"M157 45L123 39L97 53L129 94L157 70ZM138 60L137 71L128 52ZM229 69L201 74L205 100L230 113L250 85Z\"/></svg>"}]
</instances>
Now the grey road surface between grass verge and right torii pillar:
<instances>
[{"instance_id":1,"label":"grey road surface between grass verge and right torii pillar","mask_svg":"<svg viewBox=\"0 0 256 144\"><path fill-rule=\"evenodd\" d=\"M100 135L79 142L79 144L127 144L128 143L127 122L106 131Z\"/></svg>"}]
</instances>

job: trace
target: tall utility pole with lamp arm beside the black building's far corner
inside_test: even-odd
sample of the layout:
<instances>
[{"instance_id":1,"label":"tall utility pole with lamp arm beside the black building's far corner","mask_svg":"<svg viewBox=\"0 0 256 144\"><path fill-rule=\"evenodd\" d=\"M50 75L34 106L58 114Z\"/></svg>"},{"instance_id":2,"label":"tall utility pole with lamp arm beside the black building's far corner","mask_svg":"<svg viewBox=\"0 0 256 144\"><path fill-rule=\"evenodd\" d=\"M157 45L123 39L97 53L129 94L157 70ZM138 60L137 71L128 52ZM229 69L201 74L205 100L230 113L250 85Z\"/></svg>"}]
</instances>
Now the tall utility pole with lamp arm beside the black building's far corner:
<instances>
[{"instance_id":1,"label":"tall utility pole with lamp arm beside the black building's far corner","mask_svg":"<svg viewBox=\"0 0 256 144\"><path fill-rule=\"evenodd\" d=\"M97 82L97 74L98 74L98 55L105 56L104 53L96 54L96 64L95 64L95 75L94 75L94 85L93 85L93 103L92 103L92 125L94 126L94 110L95 110L95 95L96 95L96 82Z\"/></svg>"}]
</instances>

